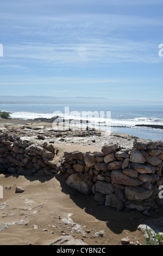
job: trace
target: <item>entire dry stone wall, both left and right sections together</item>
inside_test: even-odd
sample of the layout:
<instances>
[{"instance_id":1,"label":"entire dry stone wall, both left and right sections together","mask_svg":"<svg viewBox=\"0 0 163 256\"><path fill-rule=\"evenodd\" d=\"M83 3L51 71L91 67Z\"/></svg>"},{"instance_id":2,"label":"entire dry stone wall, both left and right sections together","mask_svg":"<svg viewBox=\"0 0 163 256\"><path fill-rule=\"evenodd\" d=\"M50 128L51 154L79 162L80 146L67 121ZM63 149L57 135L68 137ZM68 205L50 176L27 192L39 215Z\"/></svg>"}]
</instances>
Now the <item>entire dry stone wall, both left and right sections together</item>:
<instances>
[{"instance_id":1,"label":"entire dry stone wall, both left and right sections together","mask_svg":"<svg viewBox=\"0 0 163 256\"><path fill-rule=\"evenodd\" d=\"M83 194L93 194L99 205L118 210L158 210L162 181L163 142L135 141L132 149L105 144L101 151L65 152L55 162L53 145L22 141L16 135L0 133L0 173L33 175L65 174L66 184Z\"/></svg>"}]
</instances>

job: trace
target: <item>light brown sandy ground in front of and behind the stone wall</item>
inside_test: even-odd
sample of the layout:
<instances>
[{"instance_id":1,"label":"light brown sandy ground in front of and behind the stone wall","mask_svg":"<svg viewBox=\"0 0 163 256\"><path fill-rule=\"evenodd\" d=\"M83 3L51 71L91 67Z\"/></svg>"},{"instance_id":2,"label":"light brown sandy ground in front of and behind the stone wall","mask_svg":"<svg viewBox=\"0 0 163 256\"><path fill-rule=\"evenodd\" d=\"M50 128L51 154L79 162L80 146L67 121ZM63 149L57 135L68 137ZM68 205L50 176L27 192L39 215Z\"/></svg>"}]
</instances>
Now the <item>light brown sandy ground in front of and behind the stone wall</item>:
<instances>
[{"instance_id":1,"label":"light brown sandy ground in front of and behind the stone wall","mask_svg":"<svg viewBox=\"0 0 163 256\"><path fill-rule=\"evenodd\" d=\"M56 132L51 123L18 119L0 119L0 130L30 142L53 144L59 150L58 162L65 151L93 152L101 149L105 142L132 148L135 140L134 136L120 133ZM39 139L38 135L45 137ZM45 176L45 173L33 176L0 174L0 185L3 186L0 245L49 245L57 237L66 235L81 239L87 245L122 245L121 239L143 245L144 238L137 227L145 220L162 216L162 210L145 216L135 210L118 211L98 205L93 195L85 196L68 187L60 172L51 176ZM17 186L24 192L15 193Z\"/></svg>"}]
</instances>

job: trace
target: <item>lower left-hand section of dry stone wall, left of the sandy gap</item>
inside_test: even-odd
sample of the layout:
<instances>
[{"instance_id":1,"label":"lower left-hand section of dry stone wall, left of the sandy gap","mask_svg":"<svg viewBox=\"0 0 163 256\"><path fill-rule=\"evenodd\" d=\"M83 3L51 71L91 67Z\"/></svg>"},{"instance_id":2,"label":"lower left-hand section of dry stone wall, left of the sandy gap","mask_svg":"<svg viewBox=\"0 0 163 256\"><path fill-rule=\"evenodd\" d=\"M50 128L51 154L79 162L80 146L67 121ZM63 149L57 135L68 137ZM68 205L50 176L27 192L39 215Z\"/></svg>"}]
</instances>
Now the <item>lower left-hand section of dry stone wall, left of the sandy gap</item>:
<instances>
[{"instance_id":1,"label":"lower left-hand section of dry stone wall, left of the sandy gap","mask_svg":"<svg viewBox=\"0 0 163 256\"><path fill-rule=\"evenodd\" d=\"M46 175L57 173L60 166L54 162L58 154L53 145L22 141L16 135L0 133L0 173L33 175L40 170Z\"/></svg>"}]
</instances>

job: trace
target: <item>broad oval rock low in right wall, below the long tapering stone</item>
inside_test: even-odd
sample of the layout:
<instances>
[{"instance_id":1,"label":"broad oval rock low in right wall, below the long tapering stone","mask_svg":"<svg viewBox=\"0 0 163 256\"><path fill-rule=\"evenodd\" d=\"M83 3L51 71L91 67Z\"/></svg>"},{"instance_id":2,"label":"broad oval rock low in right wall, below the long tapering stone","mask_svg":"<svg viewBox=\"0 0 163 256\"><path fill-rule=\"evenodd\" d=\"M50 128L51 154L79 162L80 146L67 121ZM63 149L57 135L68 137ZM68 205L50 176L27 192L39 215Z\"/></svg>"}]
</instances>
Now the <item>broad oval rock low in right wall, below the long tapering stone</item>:
<instances>
[{"instance_id":1,"label":"broad oval rock low in right wall, below the long tapering stone","mask_svg":"<svg viewBox=\"0 0 163 256\"><path fill-rule=\"evenodd\" d=\"M126 186L124 188L124 193L128 200L139 201L151 197L153 191L149 191L143 187L138 186Z\"/></svg>"}]
</instances>

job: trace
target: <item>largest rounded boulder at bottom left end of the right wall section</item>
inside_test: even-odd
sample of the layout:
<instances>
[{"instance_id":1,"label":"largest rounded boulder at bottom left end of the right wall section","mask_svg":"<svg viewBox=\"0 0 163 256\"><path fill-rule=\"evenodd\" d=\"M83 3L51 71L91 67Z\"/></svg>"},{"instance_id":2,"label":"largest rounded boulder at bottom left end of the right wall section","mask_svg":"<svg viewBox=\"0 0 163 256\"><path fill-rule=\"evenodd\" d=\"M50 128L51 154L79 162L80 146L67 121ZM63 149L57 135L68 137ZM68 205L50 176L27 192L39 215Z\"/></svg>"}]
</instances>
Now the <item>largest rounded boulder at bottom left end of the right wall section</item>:
<instances>
[{"instance_id":1,"label":"largest rounded boulder at bottom left end of the right wall section","mask_svg":"<svg viewBox=\"0 0 163 256\"><path fill-rule=\"evenodd\" d=\"M68 176L66 184L82 194L91 194L93 182L84 178L83 173Z\"/></svg>"}]
</instances>

